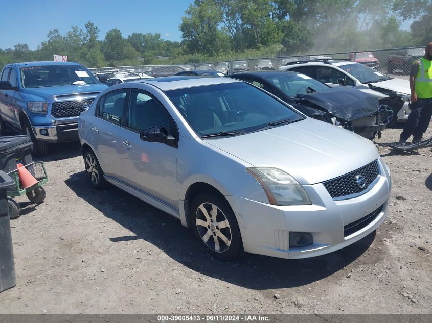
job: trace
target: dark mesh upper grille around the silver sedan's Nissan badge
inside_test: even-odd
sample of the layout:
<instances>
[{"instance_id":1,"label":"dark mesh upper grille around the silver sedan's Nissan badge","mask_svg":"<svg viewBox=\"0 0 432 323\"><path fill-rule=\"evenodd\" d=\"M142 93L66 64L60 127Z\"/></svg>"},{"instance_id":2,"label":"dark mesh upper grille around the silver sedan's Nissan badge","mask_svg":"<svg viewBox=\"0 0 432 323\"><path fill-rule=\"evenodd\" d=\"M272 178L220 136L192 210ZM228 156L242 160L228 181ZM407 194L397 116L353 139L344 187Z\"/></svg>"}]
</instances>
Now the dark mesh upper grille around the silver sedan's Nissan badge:
<instances>
[{"instance_id":1,"label":"dark mesh upper grille around the silver sedan's Nissan badge","mask_svg":"<svg viewBox=\"0 0 432 323\"><path fill-rule=\"evenodd\" d=\"M342 197L360 193L366 190L368 186L378 177L378 174L378 162L375 160L366 166L351 171L346 175L324 182L323 184L332 198ZM361 175L365 178L365 187L361 188L357 185L355 179L357 175Z\"/></svg>"}]
</instances>

